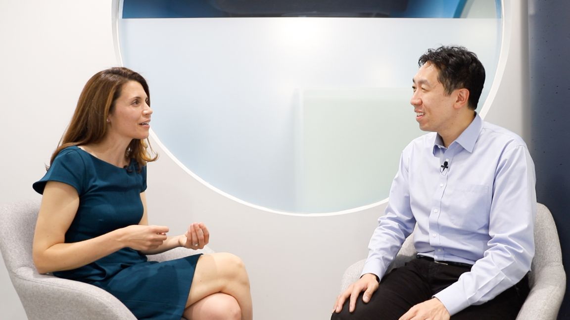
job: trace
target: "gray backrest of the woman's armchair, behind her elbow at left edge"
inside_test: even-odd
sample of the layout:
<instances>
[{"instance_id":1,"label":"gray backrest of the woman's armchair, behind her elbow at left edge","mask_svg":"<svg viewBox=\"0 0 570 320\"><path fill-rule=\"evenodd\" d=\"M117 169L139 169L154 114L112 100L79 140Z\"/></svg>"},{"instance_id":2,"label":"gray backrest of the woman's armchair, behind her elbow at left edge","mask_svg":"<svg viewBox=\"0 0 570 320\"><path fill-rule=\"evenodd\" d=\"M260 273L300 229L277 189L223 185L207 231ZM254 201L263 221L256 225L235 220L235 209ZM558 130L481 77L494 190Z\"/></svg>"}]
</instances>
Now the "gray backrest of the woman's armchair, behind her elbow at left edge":
<instances>
[{"instance_id":1,"label":"gray backrest of the woman's armchair, behind her elbow at left edge","mask_svg":"<svg viewBox=\"0 0 570 320\"><path fill-rule=\"evenodd\" d=\"M40 200L25 200L0 208L0 251L10 274L22 266L35 270L32 242Z\"/></svg>"}]
</instances>

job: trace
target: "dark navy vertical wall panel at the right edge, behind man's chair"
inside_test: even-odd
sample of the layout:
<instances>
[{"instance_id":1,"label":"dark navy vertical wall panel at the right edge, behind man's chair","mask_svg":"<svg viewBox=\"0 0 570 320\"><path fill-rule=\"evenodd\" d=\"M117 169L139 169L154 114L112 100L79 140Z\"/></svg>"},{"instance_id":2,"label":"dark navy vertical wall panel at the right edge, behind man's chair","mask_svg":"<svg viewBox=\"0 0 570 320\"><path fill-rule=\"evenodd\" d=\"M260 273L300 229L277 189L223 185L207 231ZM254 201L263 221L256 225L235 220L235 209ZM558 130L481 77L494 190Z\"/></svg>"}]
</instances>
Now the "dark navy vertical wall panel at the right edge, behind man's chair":
<instances>
[{"instance_id":1,"label":"dark navy vertical wall panel at the right edge, behind man's chair","mask_svg":"<svg viewBox=\"0 0 570 320\"><path fill-rule=\"evenodd\" d=\"M570 266L570 1L528 0L531 154L538 201L552 211ZM568 272L567 272L568 274ZM570 319L570 279L559 319Z\"/></svg>"}]
</instances>

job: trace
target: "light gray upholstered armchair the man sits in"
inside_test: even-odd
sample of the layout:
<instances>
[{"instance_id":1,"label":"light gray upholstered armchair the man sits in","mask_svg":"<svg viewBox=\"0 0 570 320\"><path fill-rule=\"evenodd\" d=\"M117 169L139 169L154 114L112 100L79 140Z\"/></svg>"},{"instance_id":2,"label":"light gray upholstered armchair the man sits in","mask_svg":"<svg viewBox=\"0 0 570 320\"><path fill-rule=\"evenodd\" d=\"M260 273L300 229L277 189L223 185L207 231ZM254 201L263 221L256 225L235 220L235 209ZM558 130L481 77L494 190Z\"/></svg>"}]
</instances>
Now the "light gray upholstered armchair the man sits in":
<instances>
[{"instance_id":1,"label":"light gray upholstered armchair the man sits in","mask_svg":"<svg viewBox=\"0 0 570 320\"><path fill-rule=\"evenodd\" d=\"M556 320L566 289L566 273L562 265L560 240L552 214L544 204L536 204L535 257L528 281L531 288L517 320ZM404 265L416 256L412 236L402 245L390 268ZM359 279L364 268L360 260L348 267L341 280L341 292Z\"/></svg>"}]
</instances>

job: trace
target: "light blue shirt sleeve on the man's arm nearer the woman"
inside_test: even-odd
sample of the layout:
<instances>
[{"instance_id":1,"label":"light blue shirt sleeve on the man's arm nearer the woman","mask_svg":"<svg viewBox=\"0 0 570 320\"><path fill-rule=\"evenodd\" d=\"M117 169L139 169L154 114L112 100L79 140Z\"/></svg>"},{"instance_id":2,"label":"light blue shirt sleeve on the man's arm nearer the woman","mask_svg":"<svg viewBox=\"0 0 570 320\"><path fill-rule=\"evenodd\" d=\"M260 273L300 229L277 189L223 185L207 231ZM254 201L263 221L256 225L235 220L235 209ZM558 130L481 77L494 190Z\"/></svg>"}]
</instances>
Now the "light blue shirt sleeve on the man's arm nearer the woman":
<instances>
[{"instance_id":1,"label":"light blue shirt sleeve on the man's arm nearer the woman","mask_svg":"<svg viewBox=\"0 0 570 320\"><path fill-rule=\"evenodd\" d=\"M416 225L408 187L409 149L410 146L402 152L398 172L390 187L388 207L385 214L378 218L378 227L374 229L368 244L368 258L362 274L376 274L378 279L384 277L390 262Z\"/></svg>"}]
</instances>

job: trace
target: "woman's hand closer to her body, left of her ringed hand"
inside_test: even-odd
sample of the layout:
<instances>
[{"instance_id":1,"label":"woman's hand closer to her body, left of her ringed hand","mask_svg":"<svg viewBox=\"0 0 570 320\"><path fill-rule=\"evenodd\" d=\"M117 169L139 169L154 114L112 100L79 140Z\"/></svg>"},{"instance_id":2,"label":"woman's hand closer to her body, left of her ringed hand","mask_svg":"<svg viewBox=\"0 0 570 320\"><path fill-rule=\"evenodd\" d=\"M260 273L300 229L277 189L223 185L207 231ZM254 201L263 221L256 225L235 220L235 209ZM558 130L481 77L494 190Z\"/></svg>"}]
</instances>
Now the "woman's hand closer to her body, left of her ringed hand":
<instances>
[{"instance_id":1,"label":"woman's hand closer to her body, left of her ringed hand","mask_svg":"<svg viewBox=\"0 0 570 320\"><path fill-rule=\"evenodd\" d=\"M122 229L119 241L124 243L125 247L135 249L137 251L148 251L156 249L166 240L166 232L168 227L161 225L129 225Z\"/></svg>"}]
</instances>

